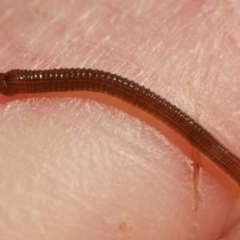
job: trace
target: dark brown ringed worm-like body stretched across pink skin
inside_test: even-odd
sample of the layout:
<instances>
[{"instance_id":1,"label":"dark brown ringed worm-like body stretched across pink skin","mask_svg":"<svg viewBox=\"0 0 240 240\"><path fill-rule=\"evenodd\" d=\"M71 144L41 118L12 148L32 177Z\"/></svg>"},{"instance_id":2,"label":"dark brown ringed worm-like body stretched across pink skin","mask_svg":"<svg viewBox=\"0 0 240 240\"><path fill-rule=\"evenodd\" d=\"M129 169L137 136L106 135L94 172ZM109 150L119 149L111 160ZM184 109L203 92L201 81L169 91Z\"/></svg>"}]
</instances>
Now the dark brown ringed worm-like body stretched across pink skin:
<instances>
[{"instance_id":1,"label":"dark brown ringed worm-like body stretched across pink skin","mask_svg":"<svg viewBox=\"0 0 240 240\"><path fill-rule=\"evenodd\" d=\"M0 74L0 93L102 92L122 99L163 121L205 154L240 186L240 159L179 108L139 84L91 69L11 70Z\"/></svg>"}]
</instances>

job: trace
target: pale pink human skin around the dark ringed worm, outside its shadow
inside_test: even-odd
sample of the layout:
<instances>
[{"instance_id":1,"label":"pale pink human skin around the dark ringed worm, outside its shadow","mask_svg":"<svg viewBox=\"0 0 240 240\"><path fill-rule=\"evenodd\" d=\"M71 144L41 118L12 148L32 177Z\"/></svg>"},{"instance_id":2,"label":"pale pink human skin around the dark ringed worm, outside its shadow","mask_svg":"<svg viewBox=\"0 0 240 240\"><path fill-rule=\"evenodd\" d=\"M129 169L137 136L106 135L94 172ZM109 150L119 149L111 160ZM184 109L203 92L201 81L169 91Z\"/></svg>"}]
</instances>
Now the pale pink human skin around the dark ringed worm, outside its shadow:
<instances>
[{"instance_id":1,"label":"pale pink human skin around the dark ringed worm, outside its shadow","mask_svg":"<svg viewBox=\"0 0 240 240\"><path fill-rule=\"evenodd\" d=\"M240 156L238 7L2 1L1 71L115 72ZM203 170L194 209L191 162L160 132L80 93L28 97L0 96L2 239L239 239L238 199Z\"/></svg>"}]
</instances>

